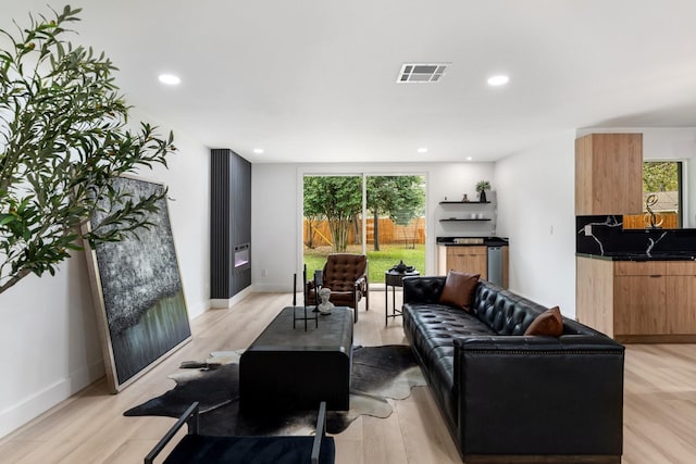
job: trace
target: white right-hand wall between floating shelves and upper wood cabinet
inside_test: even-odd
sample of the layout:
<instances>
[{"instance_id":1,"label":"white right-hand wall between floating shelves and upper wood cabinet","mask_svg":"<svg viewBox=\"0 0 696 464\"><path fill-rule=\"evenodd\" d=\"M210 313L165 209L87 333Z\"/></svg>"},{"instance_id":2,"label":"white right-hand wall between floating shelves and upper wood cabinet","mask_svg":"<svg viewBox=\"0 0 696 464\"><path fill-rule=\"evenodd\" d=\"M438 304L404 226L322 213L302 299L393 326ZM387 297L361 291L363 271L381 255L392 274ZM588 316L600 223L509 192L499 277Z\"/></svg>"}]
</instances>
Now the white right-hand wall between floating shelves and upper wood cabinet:
<instances>
[{"instance_id":1,"label":"white right-hand wall between floating shelves and upper wood cabinet","mask_svg":"<svg viewBox=\"0 0 696 464\"><path fill-rule=\"evenodd\" d=\"M510 289L575 316L575 133L496 163L498 234L510 238Z\"/></svg>"}]
</instances>

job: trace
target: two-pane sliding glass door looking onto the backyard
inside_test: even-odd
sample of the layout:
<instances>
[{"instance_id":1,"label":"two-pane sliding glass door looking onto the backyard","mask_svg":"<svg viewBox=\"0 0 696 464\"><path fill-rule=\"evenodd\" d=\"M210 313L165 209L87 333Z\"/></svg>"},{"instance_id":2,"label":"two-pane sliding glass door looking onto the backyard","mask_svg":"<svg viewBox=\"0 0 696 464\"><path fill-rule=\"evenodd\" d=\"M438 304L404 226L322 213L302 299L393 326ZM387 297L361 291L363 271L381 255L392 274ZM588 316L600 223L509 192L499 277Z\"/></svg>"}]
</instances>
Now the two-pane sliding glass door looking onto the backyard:
<instances>
[{"instance_id":1,"label":"two-pane sliding glass door looking onto the backyard","mask_svg":"<svg viewBox=\"0 0 696 464\"><path fill-rule=\"evenodd\" d=\"M306 175L302 240L309 276L338 252L366 254L371 284L400 261L423 272L425 177Z\"/></svg>"}]
</instances>

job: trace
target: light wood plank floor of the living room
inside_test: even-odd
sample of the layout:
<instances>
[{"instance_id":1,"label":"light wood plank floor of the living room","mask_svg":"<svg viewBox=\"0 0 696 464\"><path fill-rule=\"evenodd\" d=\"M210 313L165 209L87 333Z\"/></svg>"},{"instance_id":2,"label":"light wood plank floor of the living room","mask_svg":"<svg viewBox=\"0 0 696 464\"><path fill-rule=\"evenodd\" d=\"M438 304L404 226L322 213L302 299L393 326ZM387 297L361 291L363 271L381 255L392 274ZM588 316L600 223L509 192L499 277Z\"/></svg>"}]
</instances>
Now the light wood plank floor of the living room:
<instances>
[{"instance_id":1,"label":"light wood plank floor of the living room","mask_svg":"<svg viewBox=\"0 0 696 464\"><path fill-rule=\"evenodd\" d=\"M390 296L389 296L390 297ZM397 293L397 304L400 296ZM184 360L246 348L289 294L254 293L232 310L212 310L191 323L194 339L137 383L109 394L100 380L0 440L1 463L138 463L174 422L124 417L133 405L171 389L166 376ZM384 292L370 312L361 305L355 342L405 343L400 319L384 325ZM336 436L337 463L459 463L427 387L394 401L390 417L358 418ZM626 350L624 456L627 464L696 462L696 344L633 344Z\"/></svg>"}]
</instances>

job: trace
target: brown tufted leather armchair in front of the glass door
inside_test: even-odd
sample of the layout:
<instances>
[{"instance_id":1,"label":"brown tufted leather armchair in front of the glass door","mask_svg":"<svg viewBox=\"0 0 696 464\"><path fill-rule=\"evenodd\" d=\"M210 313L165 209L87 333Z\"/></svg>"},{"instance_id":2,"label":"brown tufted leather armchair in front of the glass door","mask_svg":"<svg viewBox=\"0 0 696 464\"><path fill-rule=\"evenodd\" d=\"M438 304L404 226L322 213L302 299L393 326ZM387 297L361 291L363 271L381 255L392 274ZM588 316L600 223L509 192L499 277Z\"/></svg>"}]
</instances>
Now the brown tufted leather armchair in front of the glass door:
<instances>
[{"instance_id":1,"label":"brown tufted leather armchair in front of the glass door","mask_svg":"<svg viewBox=\"0 0 696 464\"><path fill-rule=\"evenodd\" d=\"M315 304L314 281L307 283L306 304ZM326 256L322 272L322 287L331 289L330 301L336 306L353 309L358 322L358 303L365 297L365 311L370 310L368 256L364 254L332 253Z\"/></svg>"}]
</instances>

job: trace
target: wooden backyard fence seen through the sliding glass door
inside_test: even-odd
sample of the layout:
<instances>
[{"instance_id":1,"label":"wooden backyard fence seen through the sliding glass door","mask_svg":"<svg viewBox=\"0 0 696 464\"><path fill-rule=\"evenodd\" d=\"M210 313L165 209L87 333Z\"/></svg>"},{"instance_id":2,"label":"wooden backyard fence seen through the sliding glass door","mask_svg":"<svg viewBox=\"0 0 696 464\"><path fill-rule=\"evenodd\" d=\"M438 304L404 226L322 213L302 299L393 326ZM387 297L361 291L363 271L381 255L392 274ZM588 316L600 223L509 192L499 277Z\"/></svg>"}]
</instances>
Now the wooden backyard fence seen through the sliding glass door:
<instances>
[{"instance_id":1,"label":"wooden backyard fence seen through the sliding glass door","mask_svg":"<svg viewBox=\"0 0 696 464\"><path fill-rule=\"evenodd\" d=\"M388 217L381 217L378 221L380 243L425 243L425 217L411 220L407 226L396 225ZM368 243L372 243L374 242L374 218L370 217L365 227ZM332 244L331 230L326 220L312 222L311 233L313 234L312 244L314 247ZM303 221L302 234L304 244L310 243L310 228L307 218ZM348 243L359 242L360 237L356 239L356 227L351 227Z\"/></svg>"}]
</instances>

